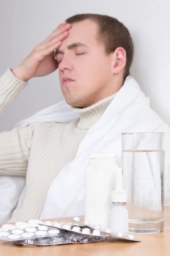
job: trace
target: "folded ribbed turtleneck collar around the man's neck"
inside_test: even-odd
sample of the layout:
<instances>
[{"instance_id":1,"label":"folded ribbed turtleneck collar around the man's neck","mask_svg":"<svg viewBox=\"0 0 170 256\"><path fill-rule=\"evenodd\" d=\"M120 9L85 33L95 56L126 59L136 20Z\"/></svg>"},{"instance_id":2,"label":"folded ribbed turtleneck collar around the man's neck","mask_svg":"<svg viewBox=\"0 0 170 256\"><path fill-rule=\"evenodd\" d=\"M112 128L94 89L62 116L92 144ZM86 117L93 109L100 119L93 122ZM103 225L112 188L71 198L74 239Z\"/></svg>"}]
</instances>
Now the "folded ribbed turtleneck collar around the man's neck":
<instances>
[{"instance_id":1,"label":"folded ribbed turtleneck collar around the man's neck","mask_svg":"<svg viewBox=\"0 0 170 256\"><path fill-rule=\"evenodd\" d=\"M113 98L117 93L112 94L111 96L96 102L94 105L91 105L87 108L75 108L71 107L75 113L79 114L79 120L77 127L80 129L89 129L94 123L99 120L102 114L105 112L108 105L111 103Z\"/></svg>"}]
</instances>

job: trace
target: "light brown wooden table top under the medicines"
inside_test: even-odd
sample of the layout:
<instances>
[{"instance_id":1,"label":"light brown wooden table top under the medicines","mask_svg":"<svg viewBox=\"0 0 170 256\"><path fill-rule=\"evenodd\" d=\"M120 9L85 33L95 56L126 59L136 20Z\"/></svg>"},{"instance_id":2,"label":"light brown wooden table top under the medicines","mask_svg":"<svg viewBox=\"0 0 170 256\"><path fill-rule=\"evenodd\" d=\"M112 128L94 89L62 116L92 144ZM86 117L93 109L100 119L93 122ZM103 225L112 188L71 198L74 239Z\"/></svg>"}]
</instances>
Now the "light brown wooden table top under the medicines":
<instances>
[{"instance_id":1,"label":"light brown wooden table top under the medicines","mask_svg":"<svg viewBox=\"0 0 170 256\"><path fill-rule=\"evenodd\" d=\"M65 218L52 221L66 221ZM142 242L108 239L89 244L19 246L0 241L0 256L170 256L170 206L165 207L165 230L160 234L136 235Z\"/></svg>"}]
</instances>

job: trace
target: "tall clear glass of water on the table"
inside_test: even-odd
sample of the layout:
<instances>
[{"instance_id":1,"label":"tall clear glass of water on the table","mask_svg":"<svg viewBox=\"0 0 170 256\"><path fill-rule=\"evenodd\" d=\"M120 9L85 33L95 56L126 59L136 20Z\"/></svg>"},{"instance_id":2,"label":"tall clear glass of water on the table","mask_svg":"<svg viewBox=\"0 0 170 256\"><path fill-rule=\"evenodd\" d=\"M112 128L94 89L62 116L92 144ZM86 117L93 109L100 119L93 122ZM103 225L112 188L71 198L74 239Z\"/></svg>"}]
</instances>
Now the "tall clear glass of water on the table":
<instances>
[{"instance_id":1,"label":"tall clear glass of water on the table","mask_svg":"<svg viewBox=\"0 0 170 256\"><path fill-rule=\"evenodd\" d=\"M122 172L129 232L164 230L164 133L122 133Z\"/></svg>"}]
</instances>

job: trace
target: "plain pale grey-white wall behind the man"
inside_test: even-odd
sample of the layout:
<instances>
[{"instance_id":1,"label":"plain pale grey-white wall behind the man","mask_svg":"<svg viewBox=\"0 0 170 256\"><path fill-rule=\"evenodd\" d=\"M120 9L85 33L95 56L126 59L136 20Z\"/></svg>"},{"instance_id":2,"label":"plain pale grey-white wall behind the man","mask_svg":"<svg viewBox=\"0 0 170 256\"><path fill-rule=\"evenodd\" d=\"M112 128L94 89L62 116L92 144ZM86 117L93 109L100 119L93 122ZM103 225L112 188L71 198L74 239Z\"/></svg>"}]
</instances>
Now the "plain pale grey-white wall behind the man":
<instances>
[{"instance_id":1,"label":"plain pale grey-white wall behind the man","mask_svg":"<svg viewBox=\"0 0 170 256\"><path fill-rule=\"evenodd\" d=\"M170 125L169 0L0 0L0 76L14 68L67 17L99 13L118 18L135 43L131 75ZM130 92L129 92L130 93ZM29 81L0 116L0 131L63 99L58 71Z\"/></svg>"}]
</instances>

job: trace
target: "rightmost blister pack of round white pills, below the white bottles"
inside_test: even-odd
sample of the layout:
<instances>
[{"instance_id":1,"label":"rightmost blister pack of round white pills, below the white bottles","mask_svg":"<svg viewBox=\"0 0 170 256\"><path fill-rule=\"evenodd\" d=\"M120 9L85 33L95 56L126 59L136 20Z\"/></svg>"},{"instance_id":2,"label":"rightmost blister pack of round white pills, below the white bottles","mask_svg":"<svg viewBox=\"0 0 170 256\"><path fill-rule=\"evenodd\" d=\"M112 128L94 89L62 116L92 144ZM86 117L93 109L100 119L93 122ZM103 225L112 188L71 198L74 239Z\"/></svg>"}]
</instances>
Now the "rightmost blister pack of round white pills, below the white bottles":
<instances>
[{"instance_id":1,"label":"rightmost blister pack of round white pills, below the white bottles","mask_svg":"<svg viewBox=\"0 0 170 256\"><path fill-rule=\"evenodd\" d=\"M123 239L123 240L128 240L128 241L141 242L140 240L136 240L135 236L133 236L133 234L128 234L127 236L124 236L124 234L121 233L121 232L113 234L111 229L108 228L106 230L102 230L100 224L91 225L89 223L89 221L86 221L86 220L81 222L79 217L74 217L73 219L70 219L70 221L77 222L79 224L85 225L86 227L89 227L89 228L94 229L94 230L99 230L101 233L106 233L106 234L108 234L112 237L116 237L116 238Z\"/></svg>"}]
</instances>

